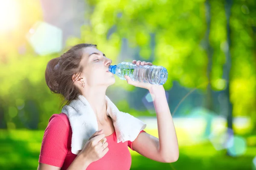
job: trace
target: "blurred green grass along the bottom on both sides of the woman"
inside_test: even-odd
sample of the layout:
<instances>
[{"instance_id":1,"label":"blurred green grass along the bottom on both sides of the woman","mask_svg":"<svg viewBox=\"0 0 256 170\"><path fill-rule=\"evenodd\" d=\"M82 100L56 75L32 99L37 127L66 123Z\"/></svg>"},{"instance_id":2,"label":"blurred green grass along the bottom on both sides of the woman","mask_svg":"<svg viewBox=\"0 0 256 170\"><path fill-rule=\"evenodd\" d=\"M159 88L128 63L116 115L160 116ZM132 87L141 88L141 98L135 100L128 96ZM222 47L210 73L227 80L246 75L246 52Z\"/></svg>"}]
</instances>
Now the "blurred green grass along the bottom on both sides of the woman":
<instances>
[{"instance_id":1,"label":"blurred green grass along the bottom on both sides of the woman","mask_svg":"<svg viewBox=\"0 0 256 170\"><path fill-rule=\"evenodd\" d=\"M155 130L146 130L157 136ZM0 130L0 169L35 170L43 130ZM239 157L227 156L225 151L217 151L209 142L191 146L180 146L180 157L174 163L161 163L131 151L131 170L251 170L256 156L256 147L247 147Z\"/></svg>"}]
</instances>

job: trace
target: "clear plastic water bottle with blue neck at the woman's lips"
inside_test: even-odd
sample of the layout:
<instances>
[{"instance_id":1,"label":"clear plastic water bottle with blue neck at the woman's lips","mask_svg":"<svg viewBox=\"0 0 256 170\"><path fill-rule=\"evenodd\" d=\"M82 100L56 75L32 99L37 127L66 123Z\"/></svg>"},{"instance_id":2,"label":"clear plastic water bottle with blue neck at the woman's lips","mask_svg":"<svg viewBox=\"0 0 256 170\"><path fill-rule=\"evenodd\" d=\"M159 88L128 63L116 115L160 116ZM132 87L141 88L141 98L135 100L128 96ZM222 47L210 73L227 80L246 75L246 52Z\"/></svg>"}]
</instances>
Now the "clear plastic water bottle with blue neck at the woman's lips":
<instances>
[{"instance_id":1,"label":"clear plastic water bottle with blue neck at the woman's lips","mask_svg":"<svg viewBox=\"0 0 256 170\"><path fill-rule=\"evenodd\" d=\"M110 65L108 69L120 79L126 80L125 75L134 81L149 82L153 85L163 85L167 78L166 68L157 65L137 65L131 62L121 62L118 65Z\"/></svg>"}]
</instances>

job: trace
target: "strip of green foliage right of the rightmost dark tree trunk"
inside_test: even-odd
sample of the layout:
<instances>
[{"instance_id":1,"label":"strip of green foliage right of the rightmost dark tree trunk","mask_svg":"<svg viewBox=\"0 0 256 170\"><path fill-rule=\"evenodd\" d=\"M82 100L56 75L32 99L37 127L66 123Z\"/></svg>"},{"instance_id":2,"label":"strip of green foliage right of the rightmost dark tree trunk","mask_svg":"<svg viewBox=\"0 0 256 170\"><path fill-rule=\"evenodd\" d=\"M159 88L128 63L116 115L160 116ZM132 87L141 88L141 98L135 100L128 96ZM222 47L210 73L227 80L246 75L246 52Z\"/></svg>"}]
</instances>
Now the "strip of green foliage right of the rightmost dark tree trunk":
<instances>
[{"instance_id":1,"label":"strip of green foliage right of the rightmost dark tree trunk","mask_svg":"<svg viewBox=\"0 0 256 170\"><path fill-rule=\"evenodd\" d=\"M233 116L250 116L256 128L256 1L233 0L230 15L230 101ZM256 131L254 131L256 132Z\"/></svg>"}]
</instances>

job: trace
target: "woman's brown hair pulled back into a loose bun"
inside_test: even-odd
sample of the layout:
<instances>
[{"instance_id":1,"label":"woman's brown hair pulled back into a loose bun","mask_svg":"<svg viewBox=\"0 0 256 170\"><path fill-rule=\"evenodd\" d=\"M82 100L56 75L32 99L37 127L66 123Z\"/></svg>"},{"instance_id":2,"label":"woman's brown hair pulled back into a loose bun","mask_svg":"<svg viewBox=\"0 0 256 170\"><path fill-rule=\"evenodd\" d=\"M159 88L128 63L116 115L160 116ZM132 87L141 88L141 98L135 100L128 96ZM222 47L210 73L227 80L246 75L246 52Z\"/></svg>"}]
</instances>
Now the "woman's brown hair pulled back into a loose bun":
<instances>
[{"instance_id":1,"label":"woman's brown hair pulled back into a loose bun","mask_svg":"<svg viewBox=\"0 0 256 170\"><path fill-rule=\"evenodd\" d=\"M97 48L97 45L85 43L74 45L60 57L53 58L47 63L45 81L52 94L61 94L64 97L61 105L65 101L67 101L66 105L70 104L81 94L73 84L72 76L73 74L80 76L83 71L80 62L83 56L83 48L86 47Z\"/></svg>"}]
</instances>

